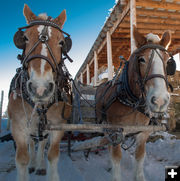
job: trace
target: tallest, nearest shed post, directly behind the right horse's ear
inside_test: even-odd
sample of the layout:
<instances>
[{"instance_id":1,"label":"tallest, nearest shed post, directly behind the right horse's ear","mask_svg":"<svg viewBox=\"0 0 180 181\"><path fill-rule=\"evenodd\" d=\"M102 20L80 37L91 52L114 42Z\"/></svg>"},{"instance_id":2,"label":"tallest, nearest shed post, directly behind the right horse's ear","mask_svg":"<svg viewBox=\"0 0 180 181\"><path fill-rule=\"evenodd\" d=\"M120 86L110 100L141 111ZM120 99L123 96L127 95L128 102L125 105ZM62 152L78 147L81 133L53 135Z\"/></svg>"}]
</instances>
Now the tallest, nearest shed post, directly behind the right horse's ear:
<instances>
[{"instance_id":1,"label":"tallest, nearest shed post, directly behind the right horse's ear","mask_svg":"<svg viewBox=\"0 0 180 181\"><path fill-rule=\"evenodd\" d=\"M136 26L136 0L130 0L131 53L136 49L133 36L133 25Z\"/></svg>"}]
</instances>

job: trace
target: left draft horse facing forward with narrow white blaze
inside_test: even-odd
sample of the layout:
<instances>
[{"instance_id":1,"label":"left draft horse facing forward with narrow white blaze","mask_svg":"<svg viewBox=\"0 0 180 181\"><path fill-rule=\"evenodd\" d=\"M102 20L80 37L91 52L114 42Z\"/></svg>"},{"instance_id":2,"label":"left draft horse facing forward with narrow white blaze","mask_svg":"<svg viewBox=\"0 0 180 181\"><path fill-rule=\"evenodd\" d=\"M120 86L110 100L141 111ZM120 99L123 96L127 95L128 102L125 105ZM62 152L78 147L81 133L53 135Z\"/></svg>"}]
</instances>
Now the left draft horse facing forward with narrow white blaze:
<instances>
[{"instance_id":1,"label":"left draft horse facing forward with narrow white blaze","mask_svg":"<svg viewBox=\"0 0 180 181\"><path fill-rule=\"evenodd\" d=\"M44 139L39 142L36 154L35 143L30 135L38 135L40 118L37 111L26 100L33 102L37 108L41 108L39 107L40 105L46 107L52 102L52 99L55 99L57 90L64 90L64 87L60 87L61 85L58 87L56 80L58 76L61 79L61 74L57 76L57 73L59 73L57 66L59 66L59 69L61 68L61 42L65 39L62 27L66 20L66 11L63 10L55 19L48 19L46 14L36 16L25 5L23 13L29 26L24 32L23 37L21 37L20 33L18 40L15 40L17 41L15 44L18 48L23 48L21 46L23 45L22 41L25 43L25 48L23 48L24 58L21 59L23 67L18 75L20 86L16 85L15 90L10 92L8 104L8 114L12 120L12 135L17 146L15 160L18 181L28 181L28 168L30 173L36 171L36 174L46 174L44 147L47 141L45 135L47 135L48 131L41 132L41 136ZM32 22L34 21L36 23L33 24ZM48 24L46 21L50 23ZM45 24L42 22L45 22ZM21 81L24 80L22 78L25 75L23 74L24 72L27 73L26 77L28 77L28 80L23 86L21 85ZM16 84L18 80L16 80ZM26 99L23 96L25 90ZM64 91L63 94L65 93ZM55 125L66 123L66 118L71 114L71 105L69 104L71 103L70 95L68 93L66 94L66 98L66 102L57 98L56 100L58 101L49 107L46 112L48 123ZM48 133L50 138L50 146L47 154L48 181L59 181L59 143L63 134L63 131Z\"/></svg>"}]
</instances>

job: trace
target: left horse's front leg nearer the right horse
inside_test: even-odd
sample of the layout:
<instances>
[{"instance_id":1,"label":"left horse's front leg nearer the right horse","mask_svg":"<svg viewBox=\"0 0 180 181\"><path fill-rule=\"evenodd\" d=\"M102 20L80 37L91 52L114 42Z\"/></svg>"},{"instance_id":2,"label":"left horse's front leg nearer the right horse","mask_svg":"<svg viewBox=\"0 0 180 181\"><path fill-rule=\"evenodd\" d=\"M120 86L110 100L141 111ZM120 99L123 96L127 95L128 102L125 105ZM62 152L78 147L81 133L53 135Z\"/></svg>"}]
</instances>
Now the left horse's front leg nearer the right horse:
<instances>
[{"instance_id":1,"label":"left horse's front leg nearer the right horse","mask_svg":"<svg viewBox=\"0 0 180 181\"><path fill-rule=\"evenodd\" d=\"M48 181L59 181L58 175L58 159L59 159L59 144L63 137L63 131L54 131L50 135L50 147L48 150Z\"/></svg>"}]
</instances>

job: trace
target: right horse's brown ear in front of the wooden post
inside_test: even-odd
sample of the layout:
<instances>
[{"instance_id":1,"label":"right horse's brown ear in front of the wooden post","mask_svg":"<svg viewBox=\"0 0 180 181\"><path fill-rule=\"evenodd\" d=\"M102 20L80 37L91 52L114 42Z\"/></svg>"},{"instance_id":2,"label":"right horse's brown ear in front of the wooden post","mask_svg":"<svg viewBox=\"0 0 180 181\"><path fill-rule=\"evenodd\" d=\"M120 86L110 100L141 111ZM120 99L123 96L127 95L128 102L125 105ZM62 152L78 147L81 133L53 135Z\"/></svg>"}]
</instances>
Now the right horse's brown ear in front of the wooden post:
<instances>
[{"instance_id":1,"label":"right horse's brown ear in front of the wooden post","mask_svg":"<svg viewBox=\"0 0 180 181\"><path fill-rule=\"evenodd\" d=\"M146 38L141 33L139 33L135 25L133 26L133 36L134 36L137 48L146 44L147 42Z\"/></svg>"}]
</instances>

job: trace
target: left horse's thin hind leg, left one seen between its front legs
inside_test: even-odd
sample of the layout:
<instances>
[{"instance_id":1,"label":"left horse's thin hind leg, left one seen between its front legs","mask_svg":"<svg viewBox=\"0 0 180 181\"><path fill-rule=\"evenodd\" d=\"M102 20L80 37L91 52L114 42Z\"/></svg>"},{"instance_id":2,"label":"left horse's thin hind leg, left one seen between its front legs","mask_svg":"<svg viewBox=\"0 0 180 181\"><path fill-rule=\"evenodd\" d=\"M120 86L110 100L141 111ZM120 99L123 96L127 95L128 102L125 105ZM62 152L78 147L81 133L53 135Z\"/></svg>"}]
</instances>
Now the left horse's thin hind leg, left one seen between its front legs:
<instances>
[{"instance_id":1,"label":"left horse's thin hind leg, left one seen between its front legs","mask_svg":"<svg viewBox=\"0 0 180 181\"><path fill-rule=\"evenodd\" d=\"M29 173L32 173L35 171L36 167L35 142L32 139L30 139L29 143L29 154L30 154Z\"/></svg>"}]
</instances>

